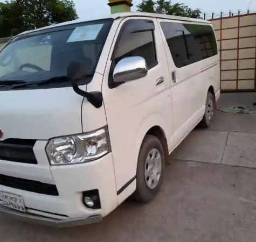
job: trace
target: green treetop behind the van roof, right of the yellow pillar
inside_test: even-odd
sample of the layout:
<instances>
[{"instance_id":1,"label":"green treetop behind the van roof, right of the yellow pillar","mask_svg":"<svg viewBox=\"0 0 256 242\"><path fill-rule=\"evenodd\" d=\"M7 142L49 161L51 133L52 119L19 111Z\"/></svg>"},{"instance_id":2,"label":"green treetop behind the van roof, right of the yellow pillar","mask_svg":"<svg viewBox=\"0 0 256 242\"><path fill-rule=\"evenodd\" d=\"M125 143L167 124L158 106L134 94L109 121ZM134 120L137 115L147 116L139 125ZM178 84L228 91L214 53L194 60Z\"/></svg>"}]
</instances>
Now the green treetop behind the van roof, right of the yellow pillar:
<instances>
[{"instance_id":1,"label":"green treetop behind the van roof, right of the yellow pillar","mask_svg":"<svg viewBox=\"0 0 256 242\"><path fill-rule=\"evenodd\" d=\"M165 15L176 15L190 18L200 18L202 13L200 9L192 10L184 3L171 4L171 1L167 0L142 0L142 2L137 5L137 10L140 12L162 13Z\"/></svg>"}]
</instances>

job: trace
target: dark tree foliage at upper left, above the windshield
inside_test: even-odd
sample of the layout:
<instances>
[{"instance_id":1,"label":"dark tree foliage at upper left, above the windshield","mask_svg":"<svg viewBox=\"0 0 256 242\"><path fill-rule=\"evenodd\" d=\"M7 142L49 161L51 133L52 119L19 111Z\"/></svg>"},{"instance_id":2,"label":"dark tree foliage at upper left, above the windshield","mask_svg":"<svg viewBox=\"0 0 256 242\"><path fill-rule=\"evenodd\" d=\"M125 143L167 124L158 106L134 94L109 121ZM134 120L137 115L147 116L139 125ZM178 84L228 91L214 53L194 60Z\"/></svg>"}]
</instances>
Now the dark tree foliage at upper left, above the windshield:
<instances>
[{"instance_id":1,"label":"dark tree foliage at upper left, above the windshield","mask_svg":"<svg viewBox=\"0 0 256 242\"><path fill-rule=\"evenodd\" d=\"M0 3L0 37L77 18L72 0L9 0Z\"/></svg>"}]
</instances>

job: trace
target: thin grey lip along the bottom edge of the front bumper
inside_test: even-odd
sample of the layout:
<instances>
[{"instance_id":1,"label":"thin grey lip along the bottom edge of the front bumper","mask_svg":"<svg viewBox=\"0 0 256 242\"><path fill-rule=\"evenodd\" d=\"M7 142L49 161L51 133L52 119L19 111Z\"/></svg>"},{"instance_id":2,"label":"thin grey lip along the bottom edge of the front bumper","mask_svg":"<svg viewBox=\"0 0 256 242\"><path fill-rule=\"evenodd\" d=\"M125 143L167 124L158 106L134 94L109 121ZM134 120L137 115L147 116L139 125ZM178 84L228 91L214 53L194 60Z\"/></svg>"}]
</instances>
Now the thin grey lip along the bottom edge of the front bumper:
<instances>
[{"instance_id":1,"label":"thin grey lip along the bottom edge of the front bumper","mask_svg":"<svg viewBox=\"0 0 256 242\"><path fill-rule=\"evenodd\" d=\"M71 227L86 224L98 223L102 220L101 215L94 215L88 218L69 218L64 220L52 219L47 217L40 217L31 215L30 213L22 213L8 208L0 208L0 213L8 214L9 217L18 218L27 222L49 225L53 227Z\"/></svg>"}]
</instances>

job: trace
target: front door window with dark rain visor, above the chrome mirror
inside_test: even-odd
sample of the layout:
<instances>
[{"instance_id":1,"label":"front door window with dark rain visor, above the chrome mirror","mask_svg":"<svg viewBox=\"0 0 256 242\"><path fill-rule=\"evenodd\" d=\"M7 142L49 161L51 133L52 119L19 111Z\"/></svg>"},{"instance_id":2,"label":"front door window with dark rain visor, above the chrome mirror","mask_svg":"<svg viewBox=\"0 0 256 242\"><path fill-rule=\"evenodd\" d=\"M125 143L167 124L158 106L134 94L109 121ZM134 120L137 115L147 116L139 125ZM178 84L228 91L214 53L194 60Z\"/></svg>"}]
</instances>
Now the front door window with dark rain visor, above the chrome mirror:
<instances>
[{"instance_id":1,"label":"front door window with dark rain visor, above the chrome mirror","mask_svg":"<svg viewBox=\"0 0 256 242\"><path fill-rule=\"evenodd\" d=\"M144 19L130 19L123 24L112 56L114 66L128 56L142 56L148 69L157 65L154 42L154 23Z\"/></svg>"}]
</instances>

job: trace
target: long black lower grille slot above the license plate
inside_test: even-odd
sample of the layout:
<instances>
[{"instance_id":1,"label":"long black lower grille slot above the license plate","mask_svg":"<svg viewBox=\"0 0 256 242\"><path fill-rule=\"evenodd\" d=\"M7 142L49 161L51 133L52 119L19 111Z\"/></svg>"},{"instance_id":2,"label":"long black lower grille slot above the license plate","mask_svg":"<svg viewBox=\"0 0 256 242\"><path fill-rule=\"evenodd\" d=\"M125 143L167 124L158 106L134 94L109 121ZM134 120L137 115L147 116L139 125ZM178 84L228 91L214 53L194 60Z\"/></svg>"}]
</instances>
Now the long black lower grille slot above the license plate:
<instances>
[{"instance_id":1,"label":"long black lower grille slot above the license plate","mask_svg":"<svg viewBox=\"0 0 256 242\"><path fill-rule=\"evenodd\" d=\"M25 191L32 191L33 193L52 196L59 195L57 187L55 185L46 184L39 181L26 180L13 176L6 176L2 174L0 174L0 185Z\"/></svg>"}]
</instances>

